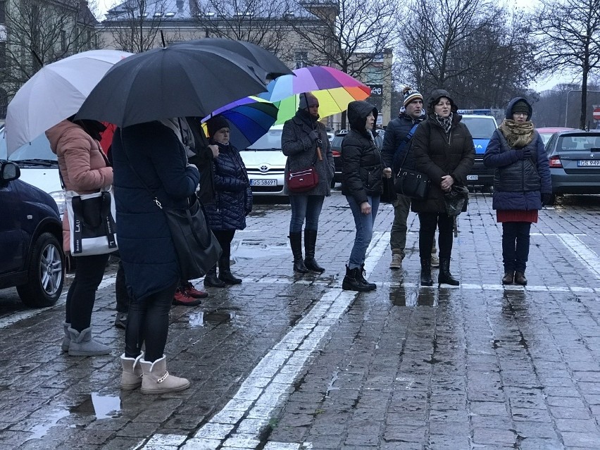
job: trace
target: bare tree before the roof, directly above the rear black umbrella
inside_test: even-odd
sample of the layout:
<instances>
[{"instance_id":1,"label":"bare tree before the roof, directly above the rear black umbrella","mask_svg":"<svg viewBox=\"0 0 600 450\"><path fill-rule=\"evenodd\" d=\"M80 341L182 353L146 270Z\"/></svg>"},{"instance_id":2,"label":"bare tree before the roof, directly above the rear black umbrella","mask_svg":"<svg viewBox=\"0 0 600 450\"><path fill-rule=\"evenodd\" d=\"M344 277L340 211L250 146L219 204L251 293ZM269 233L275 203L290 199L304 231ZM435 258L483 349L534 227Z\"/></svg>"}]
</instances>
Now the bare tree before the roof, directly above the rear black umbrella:
<instances>
[{"instance_id":1,"label":"bare tree before the roof, directly above the rear black umbrella","mask_svg":"<svg viewBox=\"0 0 600 450\"><path fill-rule=\"evenodd\" d=\"M252 42L277 54L287 35L284 0L190 0L192 17L204 37Z\"/></svg>"}]
</instances>

